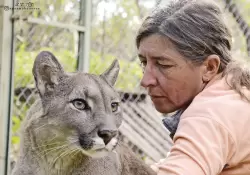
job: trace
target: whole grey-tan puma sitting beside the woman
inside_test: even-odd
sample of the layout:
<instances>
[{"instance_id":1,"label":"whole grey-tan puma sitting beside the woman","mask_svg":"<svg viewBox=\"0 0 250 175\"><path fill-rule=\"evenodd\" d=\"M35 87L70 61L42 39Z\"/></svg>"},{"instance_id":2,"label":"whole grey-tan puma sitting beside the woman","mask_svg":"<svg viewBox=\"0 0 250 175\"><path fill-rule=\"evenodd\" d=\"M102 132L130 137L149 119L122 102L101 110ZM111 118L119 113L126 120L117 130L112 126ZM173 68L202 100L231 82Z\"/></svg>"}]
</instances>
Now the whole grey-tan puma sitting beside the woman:
<instances>
[{"instance_id":1,"label":"whole grey-tan puma sitting beside the woman","mask_svg":"<svg viewBox=\"0 0 250 175\"><path fill-rule=\"evenodd\" d=\"M100 76L69 74L41 52L33 68L40 98L23 122L12 175L155 175L125 145L107 149L122 123L118 72L114 61Z\"/></svg>"}]
</instances>

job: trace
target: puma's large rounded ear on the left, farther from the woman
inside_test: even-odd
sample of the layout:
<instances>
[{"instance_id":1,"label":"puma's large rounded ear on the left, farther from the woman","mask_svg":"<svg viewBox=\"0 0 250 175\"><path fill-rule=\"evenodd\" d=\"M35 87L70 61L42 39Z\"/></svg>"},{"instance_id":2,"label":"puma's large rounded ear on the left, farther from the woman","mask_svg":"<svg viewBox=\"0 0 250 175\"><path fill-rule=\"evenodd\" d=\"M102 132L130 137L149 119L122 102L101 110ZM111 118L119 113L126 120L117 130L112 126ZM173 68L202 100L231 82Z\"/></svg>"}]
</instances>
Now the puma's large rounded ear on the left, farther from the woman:
<instances>
[{"instance_id":1,"label":"puma's large rounded ear on the left, farther from the woman","mask_svg":"<svg viewBox=\"0 0 250 175\"><path fill-rule=\"evenodd\" d=\"M58 84L59 75L63 72L61 64L52 53L42 51L37 55L33 65L33 75L41 96L45 92L53 91Z\"/></svg>"}]
</instances>

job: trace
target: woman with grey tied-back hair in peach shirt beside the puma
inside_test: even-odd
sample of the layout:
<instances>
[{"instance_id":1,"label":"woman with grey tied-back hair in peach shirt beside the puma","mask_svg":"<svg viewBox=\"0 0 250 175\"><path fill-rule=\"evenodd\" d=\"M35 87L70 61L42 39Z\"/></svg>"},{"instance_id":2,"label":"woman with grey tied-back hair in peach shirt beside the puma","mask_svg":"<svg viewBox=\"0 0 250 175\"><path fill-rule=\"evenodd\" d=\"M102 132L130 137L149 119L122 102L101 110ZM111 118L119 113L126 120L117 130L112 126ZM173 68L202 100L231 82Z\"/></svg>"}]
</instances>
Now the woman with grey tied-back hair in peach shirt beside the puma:
<instances>
[{"instance_id":1,"label":"woman with grey tied-back hair in peach shirt beside the puma","mask_svg":"<svg viewBox=\"0 0 250 175\"><path fill-rule=\"evenodd\" d=\"M250 174L250 72L233 61L218 6L178 0L139 29L141 85L162 113L174 145L158 175Z\"/></svg>"}]
</instances>

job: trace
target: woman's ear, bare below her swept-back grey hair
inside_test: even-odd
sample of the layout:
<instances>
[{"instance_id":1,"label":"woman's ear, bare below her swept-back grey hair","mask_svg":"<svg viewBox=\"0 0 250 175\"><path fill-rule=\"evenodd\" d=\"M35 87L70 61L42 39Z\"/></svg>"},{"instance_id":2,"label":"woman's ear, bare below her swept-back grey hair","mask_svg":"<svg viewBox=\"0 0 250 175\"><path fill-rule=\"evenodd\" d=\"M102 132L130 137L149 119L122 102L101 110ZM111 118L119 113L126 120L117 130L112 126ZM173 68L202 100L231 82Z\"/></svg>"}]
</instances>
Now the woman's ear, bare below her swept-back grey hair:
<instances>
[{"instance_id":1,"label":"woman's ear, bare below her swept-back grey hair","mask_svg":"<svg viewBox=\"0 0 250 175\"><path fill-rule=\"evenodd\" d=\"M203 82L209 82L215 75L218 74L220 67L220 57L218 55L209 55L203 62Z\"/></svg>"}]
</instances>

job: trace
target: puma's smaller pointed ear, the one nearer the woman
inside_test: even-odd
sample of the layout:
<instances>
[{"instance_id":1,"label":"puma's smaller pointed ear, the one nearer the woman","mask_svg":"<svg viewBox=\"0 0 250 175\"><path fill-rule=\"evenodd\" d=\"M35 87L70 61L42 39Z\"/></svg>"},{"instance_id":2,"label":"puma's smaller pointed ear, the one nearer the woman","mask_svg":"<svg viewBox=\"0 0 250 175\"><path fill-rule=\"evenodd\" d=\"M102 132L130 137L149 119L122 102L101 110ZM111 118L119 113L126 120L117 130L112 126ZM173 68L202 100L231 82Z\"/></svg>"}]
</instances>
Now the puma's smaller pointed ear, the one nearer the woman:
<instances>
[{"instance_id":1,"label":"puma's smaller pointed ear, the one nearer the woman","mask_svg":"<svg viewBox=\"0 0 250 175\"><path fill-rule=\"evenodd\" d=\"M109 68L101 74L101 76L104 77L112 86L114 86L119 74L119 70L119 62L117 59L115 59Z\"/></svg>"}]
</instances>

